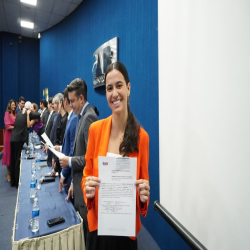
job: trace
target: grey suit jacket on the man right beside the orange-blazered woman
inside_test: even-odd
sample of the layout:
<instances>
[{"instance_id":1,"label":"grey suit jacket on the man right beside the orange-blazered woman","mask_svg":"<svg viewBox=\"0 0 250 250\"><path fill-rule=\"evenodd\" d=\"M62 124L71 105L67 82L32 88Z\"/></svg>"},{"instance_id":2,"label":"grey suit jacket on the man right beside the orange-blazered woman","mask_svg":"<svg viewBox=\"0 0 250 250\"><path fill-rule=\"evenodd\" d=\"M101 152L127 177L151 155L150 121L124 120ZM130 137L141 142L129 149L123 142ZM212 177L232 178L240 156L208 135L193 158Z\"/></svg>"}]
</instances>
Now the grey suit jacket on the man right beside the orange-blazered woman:
<instances>
[{"instance_id":1,"label":"grey suit jacket on the man right beside the orange-blazered woman","mask_svg":"<svg viewBox=\"0 0 250 250\"><path fill-rule=\"evenodd\" d=\"M85 206L81 181L83 169L85 167L85 153L88 144L89 126L95 121L97 121L96 113L88 104L83 111L81 119L78 121L73 147L73 157L71 158L74 185L74 206L76 209L78 209L79 206Z\"/></svg>"}]
</instances>

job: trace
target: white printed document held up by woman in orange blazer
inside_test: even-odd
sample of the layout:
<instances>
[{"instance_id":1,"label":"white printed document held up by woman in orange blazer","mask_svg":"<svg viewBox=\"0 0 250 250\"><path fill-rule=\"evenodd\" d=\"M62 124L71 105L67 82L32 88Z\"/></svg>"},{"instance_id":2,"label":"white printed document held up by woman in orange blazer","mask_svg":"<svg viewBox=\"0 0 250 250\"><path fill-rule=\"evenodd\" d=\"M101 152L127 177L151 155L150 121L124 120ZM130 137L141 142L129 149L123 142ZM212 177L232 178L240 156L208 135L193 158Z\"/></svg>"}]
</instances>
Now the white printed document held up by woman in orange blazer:
<instances>
[{"instance_id":1,"label":"white printed document held up by woman in orange blazer","mask_svg":"<svg viewBox=\"0 0 250 250\"><path fill-rule=\"evenodd\" d=\"M98 235L135 236L137 158L98 157Z\"/></svg>"}]
</instances>

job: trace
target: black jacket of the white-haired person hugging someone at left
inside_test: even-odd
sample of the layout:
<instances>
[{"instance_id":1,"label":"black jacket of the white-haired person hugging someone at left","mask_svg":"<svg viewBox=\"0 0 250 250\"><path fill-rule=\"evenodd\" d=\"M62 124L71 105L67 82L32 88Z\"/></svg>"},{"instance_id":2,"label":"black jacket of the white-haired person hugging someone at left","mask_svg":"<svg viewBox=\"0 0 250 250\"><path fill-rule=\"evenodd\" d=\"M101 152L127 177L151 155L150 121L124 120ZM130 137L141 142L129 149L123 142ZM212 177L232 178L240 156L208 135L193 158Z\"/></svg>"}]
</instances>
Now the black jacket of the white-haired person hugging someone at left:
<instances>
[{"instance_id":1,"label":"black jacket of the white-haired person hugging someone at left","mask_svg":"<svg viewBox=\"0 0 250 250\"><path fill-rule=\"evenodd\" d=\"M40 113L30 112L30 120L40 118ZM28 143L27 111L23 114L18 112L15 125L11 134L10 142Z\"/></svg>"}]
</instances>

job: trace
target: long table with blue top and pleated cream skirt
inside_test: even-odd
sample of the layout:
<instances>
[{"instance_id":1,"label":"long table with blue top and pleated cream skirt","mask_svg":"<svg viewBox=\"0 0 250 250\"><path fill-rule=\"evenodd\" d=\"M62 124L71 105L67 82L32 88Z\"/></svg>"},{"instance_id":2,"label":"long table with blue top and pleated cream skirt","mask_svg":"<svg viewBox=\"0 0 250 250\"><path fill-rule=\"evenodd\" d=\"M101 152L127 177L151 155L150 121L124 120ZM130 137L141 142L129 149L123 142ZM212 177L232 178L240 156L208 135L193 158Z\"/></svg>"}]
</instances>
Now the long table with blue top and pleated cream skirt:
<instances>
[{"instance_id":1,"label":"long table with blue top and pleated cream skirt","mask_svg":"<svg viewBox=\"0 0 250 250\"><path fill-rule=\"evenodd\" d=\"M40 150L41 153L41 150ZM43 157L43 156L42 156ZM32 201L30 200L31 165L33 160L26 159L22 152L20 164L20 181L16 201L12 249L13 250L85 250L83 237L83 221L75 211L71 202L66 202L66 193L59 189L59 178L55 182L42 183L37 190L40 208L39 230L31 231L29 219L32 214ZM46 165L46 162L37 162L38 166ZM50 167L37 170L37 179L44 173L51 172ZM47 221L63 216L65 222L49 227Z\"/></svg>"}]
</instances>

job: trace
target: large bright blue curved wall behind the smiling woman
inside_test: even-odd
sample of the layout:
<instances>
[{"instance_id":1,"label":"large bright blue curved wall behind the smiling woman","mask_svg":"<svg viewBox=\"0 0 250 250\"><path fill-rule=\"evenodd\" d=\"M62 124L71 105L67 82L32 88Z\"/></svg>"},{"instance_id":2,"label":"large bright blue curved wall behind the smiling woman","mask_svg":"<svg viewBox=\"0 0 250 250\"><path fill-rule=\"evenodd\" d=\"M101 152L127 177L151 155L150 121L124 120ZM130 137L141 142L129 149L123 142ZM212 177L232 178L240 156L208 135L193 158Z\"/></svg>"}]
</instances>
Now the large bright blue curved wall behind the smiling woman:
<instances>
[{"instance_id":1,"label":"large bright blue curved wall behind the smiling woman","mask_svg":"<svg viewBox=\"0 0 250 250\"><path fill-rule=\"evenodd\" d=\"M93 88L93 53L106 41L118 37L118 60L128 69L131 110L150 137L149 174L151 202L142 223L161 249L188 249L153 209L159 200L158 32L157 1L83 1L65 20L42 33L40 40L40 93L61 92L76 77L88 86L88 101L111 114L104 87Z\"/></svg>"}]
</instances>

